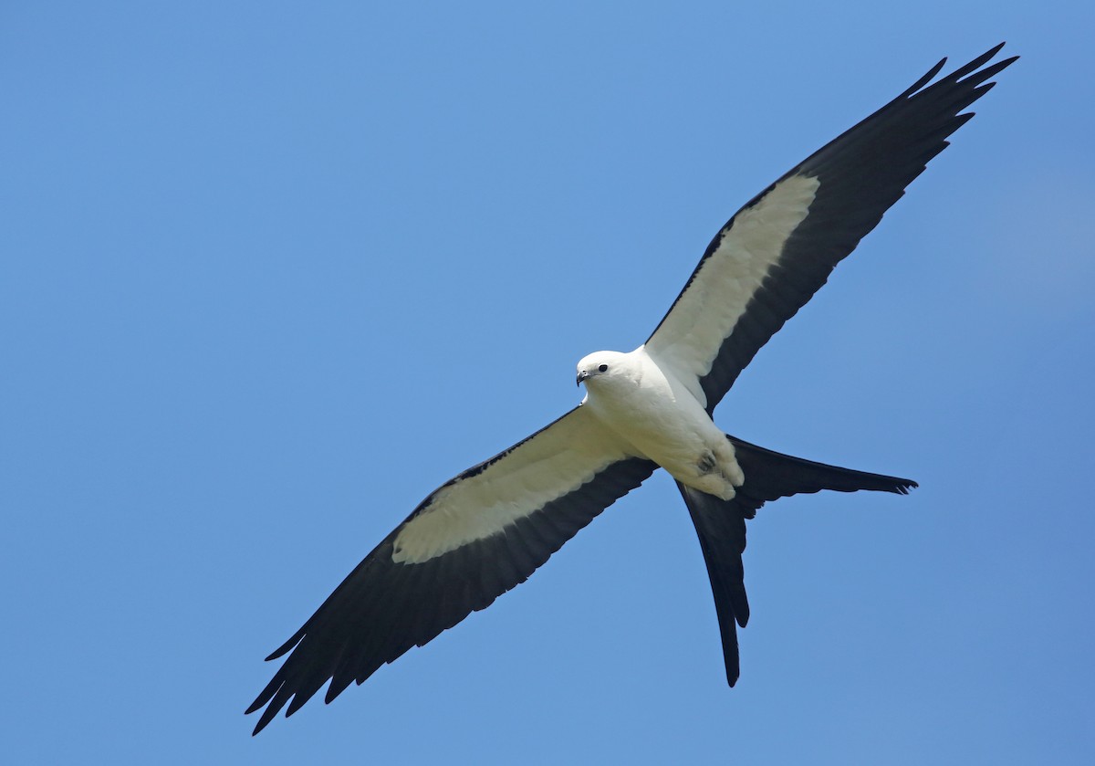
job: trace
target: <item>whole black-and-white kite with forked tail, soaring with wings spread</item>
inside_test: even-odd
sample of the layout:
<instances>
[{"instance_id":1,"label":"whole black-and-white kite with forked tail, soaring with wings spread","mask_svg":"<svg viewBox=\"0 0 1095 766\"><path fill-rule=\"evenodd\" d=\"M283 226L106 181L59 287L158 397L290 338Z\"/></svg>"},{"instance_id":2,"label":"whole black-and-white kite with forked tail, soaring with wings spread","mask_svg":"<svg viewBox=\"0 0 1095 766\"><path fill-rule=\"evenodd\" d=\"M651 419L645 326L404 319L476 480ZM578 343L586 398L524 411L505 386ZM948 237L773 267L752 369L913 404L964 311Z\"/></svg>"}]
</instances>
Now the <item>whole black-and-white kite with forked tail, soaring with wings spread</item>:
<instances>
[{"instance_id":1,"label":"whole black-and-white kite with forked tail, soaring with wings spread","mask_svg":"<svg viewBox=\"0 0 1095 766\"><path fill-rule=\"evenodd\" d=\"M917 483L749 444L715 425L715 407L973 116L963 110L1017 58L990 65L1002 47L932 82L943 59L738 210L643 345L578 362L578 407L430 493L266 658L289 654L247 708L265 708L254 733L328 681L327 702L486 608L659 467L695 526L734 686L737 627L749 619L746 519L793 494L906 494Z\"/></svg>"}]
</instances>

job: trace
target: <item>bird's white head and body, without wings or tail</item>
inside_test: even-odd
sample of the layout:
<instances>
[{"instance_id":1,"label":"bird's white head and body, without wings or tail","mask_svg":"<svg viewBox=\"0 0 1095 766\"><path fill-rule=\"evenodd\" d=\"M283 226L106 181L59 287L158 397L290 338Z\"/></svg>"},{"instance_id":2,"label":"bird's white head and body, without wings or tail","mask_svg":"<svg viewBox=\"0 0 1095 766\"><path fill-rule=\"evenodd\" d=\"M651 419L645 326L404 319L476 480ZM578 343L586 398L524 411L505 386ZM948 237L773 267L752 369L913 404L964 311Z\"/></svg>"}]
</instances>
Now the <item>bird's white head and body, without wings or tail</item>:
<instances>
[{"instance_id":1,"label":"bird's white head and body, without wings or tail","mask_svg":"<svg viewBox=\"0 0 1095 766\"><path fill-rule=\"evenodd\" d=\"M687 487L734 498L745 481L734 446L672 368L659 365L645 345L627 354L590 354L578 363L578 378L587 391L583 407L631 454L653 460Z\"/></svg>"}]
</instances>

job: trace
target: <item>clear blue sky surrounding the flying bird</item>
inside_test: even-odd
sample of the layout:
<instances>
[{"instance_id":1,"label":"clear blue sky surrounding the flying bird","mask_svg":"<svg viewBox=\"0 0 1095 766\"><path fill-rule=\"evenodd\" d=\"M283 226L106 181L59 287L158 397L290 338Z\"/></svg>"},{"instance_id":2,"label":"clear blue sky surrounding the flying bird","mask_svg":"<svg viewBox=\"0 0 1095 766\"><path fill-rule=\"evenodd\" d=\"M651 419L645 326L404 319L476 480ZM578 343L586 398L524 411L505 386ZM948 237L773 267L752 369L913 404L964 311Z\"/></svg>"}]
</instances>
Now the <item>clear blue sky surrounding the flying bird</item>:
<instances>
[{"instance_id":1,"label":"clear blue sky surrounding the flying bird","mask_svg":"<svg viewBox=\"0 0 1095 766\"><path fill-rule=\"evenodd\" d=\"M0 11L13 763L1091 763L1091 4L532 5ZM716 413L922 485L762 510L736 688L659 476L250 736L262 658L423 496L574 405L754 193L1002 39Z\"/></svg>"}]
</instances>

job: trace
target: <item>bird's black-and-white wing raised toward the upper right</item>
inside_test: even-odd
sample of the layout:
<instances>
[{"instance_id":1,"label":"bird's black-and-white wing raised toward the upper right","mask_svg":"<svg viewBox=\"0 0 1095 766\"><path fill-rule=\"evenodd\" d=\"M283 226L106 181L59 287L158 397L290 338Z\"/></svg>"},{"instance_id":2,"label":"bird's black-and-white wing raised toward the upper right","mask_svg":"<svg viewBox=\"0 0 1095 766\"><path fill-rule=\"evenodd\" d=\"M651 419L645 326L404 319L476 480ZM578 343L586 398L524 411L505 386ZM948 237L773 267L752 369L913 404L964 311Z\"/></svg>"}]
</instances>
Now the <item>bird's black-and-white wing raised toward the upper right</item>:
<instances>
[{"instance_id":1,"label":"bird's black-and-white wing raised toward the upper right","mask_svg":"<svg viewBox=\"0 0 1095 766\"><path fill-rule=\"evenodd\" d=\"M715 236L646 342L646 351L676 371L708 413L947 147L947 137L973 116L959 113L992 88L986 80L1017 58L981 69L1001 47L927 85L943 59L764 190Z\"/></svg>"}]
</instances>

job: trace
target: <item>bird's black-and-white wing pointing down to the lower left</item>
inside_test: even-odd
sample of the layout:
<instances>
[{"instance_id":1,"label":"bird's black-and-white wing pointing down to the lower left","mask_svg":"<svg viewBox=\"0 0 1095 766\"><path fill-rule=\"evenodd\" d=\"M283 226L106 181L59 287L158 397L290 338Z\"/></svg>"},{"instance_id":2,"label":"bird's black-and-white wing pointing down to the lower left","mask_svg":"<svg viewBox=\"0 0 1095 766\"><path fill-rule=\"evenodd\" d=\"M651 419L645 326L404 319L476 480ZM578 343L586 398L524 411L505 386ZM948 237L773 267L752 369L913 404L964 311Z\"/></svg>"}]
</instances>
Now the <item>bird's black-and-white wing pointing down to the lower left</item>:
<instances>
[{"instance_id":1,"label":"bird's black-and-white wing pointing down to the lower left","mask_svg":"<svg viewBox=\"0 0 1095 766\"><path fill-rule=\"evenodd\" d=\"M247 712L258 733L331 679L326 701L525 582L657 465L575 408L415 508L267 660L290 650ZM290 701L291 700L291 701Z\"/></svg>"}]
</instances>

